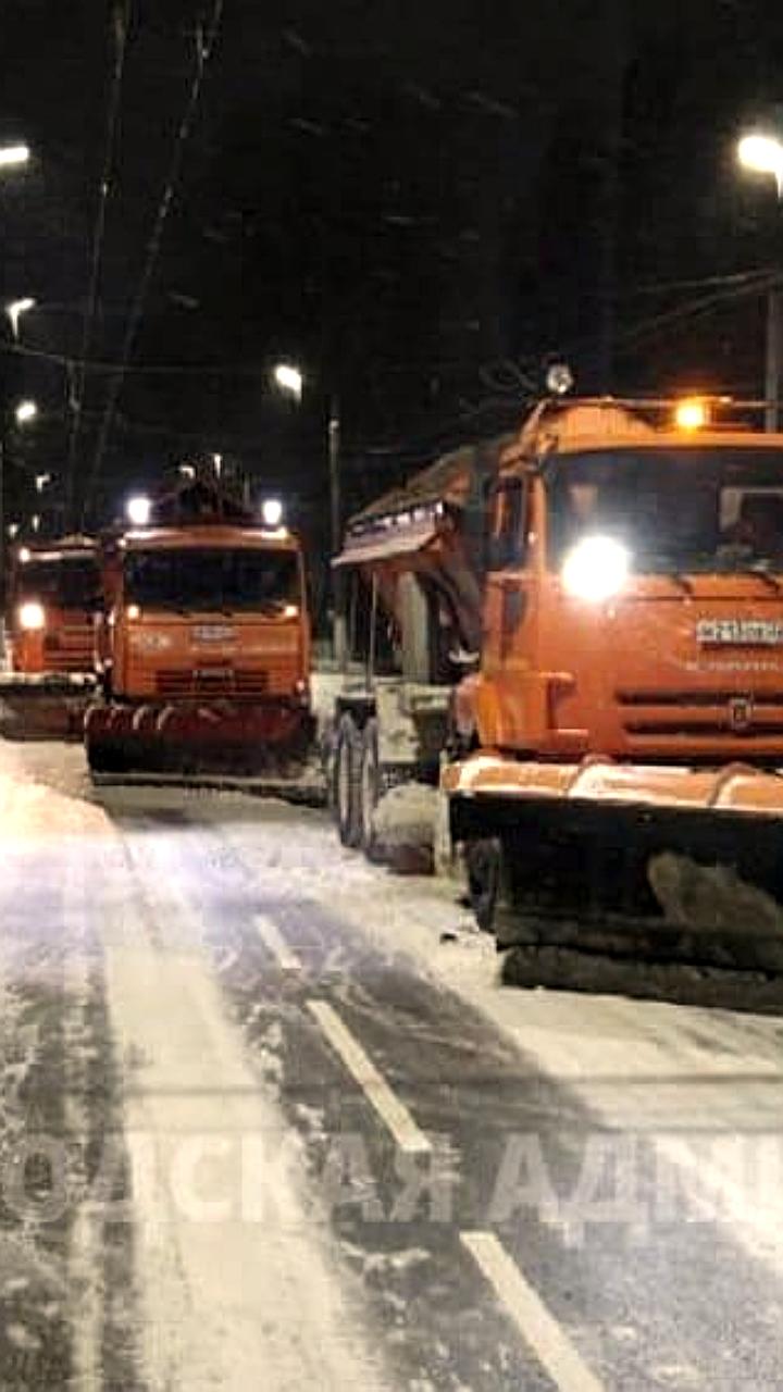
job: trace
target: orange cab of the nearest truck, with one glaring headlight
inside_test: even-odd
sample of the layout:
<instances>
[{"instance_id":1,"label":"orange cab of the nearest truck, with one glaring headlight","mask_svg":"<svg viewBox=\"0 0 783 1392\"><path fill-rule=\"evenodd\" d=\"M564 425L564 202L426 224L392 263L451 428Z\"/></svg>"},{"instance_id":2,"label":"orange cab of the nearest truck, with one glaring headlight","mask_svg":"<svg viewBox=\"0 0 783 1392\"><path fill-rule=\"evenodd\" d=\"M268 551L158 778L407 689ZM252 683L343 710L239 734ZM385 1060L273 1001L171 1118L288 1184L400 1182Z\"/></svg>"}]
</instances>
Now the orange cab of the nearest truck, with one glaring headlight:
<instances>
[{"instance_id":1,"label":"orange cab of the nearest truck, with one glaring headlight","mask_svg":"<svg viewBox=\"0 0 783 1392\"><path fill-rule=\"evenodd\" d=\"M783 437L553 409L488 503L478 745L783 759Z\"/></svg>"}]
</instances>

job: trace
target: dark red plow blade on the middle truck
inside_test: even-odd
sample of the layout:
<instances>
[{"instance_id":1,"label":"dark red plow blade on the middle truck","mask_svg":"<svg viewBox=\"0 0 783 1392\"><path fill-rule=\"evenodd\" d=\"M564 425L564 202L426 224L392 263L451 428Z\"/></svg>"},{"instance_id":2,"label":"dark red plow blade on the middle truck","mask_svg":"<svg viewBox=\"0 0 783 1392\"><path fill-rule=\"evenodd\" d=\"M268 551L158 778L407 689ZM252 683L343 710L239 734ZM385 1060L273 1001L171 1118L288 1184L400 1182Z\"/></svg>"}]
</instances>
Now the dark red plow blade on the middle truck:
<instances>
[{"instance_id":1,"label":"dark red plow blade on the middle truck","mask_svg":"<svg viewBox=\"0 0 783 1392\"><path fill-rule=\"evenodd\" d=\"M312 718L298 707L194 702L121 706L95 702L85 717L91 771L107 781L295 785L307 774ZM231 780L234 782L231 782Z\"/></svg>"}]
</instances>

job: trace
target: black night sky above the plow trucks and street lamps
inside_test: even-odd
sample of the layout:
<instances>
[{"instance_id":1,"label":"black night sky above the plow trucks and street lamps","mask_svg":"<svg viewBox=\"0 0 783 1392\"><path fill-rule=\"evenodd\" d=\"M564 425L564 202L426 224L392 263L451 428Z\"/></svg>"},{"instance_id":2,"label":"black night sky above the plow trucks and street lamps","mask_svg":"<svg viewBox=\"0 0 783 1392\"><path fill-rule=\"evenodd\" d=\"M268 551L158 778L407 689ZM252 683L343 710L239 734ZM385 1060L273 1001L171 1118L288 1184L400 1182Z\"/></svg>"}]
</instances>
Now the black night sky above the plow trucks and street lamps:
<instances>
[{"instance_id":1,"label":"black night sky above the plow trucks and street lamps","mask_svg":"<svg viewBox=\"0 0 783 1392\"><path fill-rule=\"evenodd\" d=\"M220 451L319 535L330 395L350 511L513 425L553 355L582 390L761 393L783 213L734 143L783 102L780 3L224 0L178 142L217 8L4 0L0 138L35 160L0 175L1 292L39 302L24 352L3 324L8 519L36 472L52 526L93 525Z\"/></svg>"}]
</instances>

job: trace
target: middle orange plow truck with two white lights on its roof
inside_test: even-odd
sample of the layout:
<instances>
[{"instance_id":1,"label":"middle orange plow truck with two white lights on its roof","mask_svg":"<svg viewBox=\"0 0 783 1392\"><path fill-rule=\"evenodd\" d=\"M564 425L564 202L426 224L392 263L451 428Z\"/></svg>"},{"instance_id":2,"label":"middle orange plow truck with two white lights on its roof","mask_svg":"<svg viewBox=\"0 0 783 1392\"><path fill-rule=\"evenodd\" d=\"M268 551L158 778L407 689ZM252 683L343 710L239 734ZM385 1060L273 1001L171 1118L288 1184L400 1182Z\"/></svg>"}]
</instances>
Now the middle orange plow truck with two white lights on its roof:
<instances>
[{"instance_id":1,"label":"middle orange plow truck with two white lights on its roof","mask_svg":"<svg viewBox=\"0 0 783 1392\"><path fill-rule=\"evenodd\" d=\"M294 778L312 743L298 539L195 484L116 539L104 575L92 773Z\"/></svg>"}]
</instances>

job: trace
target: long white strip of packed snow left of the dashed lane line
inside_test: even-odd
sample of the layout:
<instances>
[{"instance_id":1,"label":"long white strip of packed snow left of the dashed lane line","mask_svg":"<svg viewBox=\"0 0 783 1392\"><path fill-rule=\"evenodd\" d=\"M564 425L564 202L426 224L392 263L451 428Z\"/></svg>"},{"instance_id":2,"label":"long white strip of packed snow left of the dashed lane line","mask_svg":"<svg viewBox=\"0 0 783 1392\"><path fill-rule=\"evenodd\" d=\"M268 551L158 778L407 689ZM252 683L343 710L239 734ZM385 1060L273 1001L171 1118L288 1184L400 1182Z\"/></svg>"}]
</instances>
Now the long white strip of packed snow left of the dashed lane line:
<instances>
[{"instance_id":1,"label":"long white strip of packed snow left of the dashed lane line","mask_svg":"<svg viewBox=\"0 0 783 1392\"><path fill-rule=\"evenodd\" d=\"M226 1018L164 837L164 827L120 825L104 864L146 1378L155 1389L245 1392L259 1378L265 1392L382 1389L357 1297L307 1201L291 1129Z\"/></svg>"}]
</instances>

